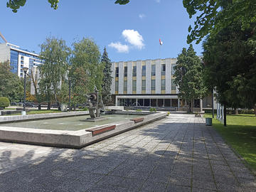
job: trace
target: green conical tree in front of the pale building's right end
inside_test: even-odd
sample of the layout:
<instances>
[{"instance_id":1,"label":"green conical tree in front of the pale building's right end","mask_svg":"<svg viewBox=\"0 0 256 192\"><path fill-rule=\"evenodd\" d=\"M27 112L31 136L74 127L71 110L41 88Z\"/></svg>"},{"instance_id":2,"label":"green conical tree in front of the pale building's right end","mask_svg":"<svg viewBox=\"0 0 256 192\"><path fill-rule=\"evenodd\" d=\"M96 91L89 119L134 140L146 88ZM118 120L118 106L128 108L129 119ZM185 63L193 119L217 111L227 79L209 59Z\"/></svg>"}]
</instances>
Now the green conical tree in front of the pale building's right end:
<instances>
[{"instance_id":1,"label":"green conical tree in front of the pale building's right end","mask_svg":"<svg viewBox=\"0 0 256 192\"><path fill-rule=\"evenodd\" d=\"M190 45L188 50L183 48L182 53L178 55L176 66L174 67L175 80L178 85L178 97L186 100L193 108L194 99L202 99L207 92L203 84L203 65L198 58L193 46ZM191 108L189 111L191 112Z\"/></svg>"}]
</instances>

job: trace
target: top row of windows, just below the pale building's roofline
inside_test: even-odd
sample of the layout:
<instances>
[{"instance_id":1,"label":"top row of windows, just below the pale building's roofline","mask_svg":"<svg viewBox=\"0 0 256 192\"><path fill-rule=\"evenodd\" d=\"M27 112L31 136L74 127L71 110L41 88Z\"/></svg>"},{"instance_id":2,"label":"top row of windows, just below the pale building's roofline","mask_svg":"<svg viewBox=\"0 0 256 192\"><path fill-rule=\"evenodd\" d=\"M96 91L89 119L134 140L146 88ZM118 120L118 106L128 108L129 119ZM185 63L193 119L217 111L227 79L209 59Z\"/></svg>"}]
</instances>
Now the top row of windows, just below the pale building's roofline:
<instances>
[{"instance_id":1,"label":"top row of windows, just below the pale building's roofline","mask_svg":"<svg viewBox=\"0 0 256 192\"><path fill-rule=\"evenodd\" d=\"M174 66L171 65L171 75L174 75ZM161 75L166 75L166 64L161 64ZM132 77L137 76L137 66L132 67ZM142 65L142 77L146 76L146 65ZM156 76L156 65L151 65L151 76ZM115 77L119 77L119 67L115 68ZM124 77L127 77L127 66L124 66Z\"/></svg>"}]
</instances>

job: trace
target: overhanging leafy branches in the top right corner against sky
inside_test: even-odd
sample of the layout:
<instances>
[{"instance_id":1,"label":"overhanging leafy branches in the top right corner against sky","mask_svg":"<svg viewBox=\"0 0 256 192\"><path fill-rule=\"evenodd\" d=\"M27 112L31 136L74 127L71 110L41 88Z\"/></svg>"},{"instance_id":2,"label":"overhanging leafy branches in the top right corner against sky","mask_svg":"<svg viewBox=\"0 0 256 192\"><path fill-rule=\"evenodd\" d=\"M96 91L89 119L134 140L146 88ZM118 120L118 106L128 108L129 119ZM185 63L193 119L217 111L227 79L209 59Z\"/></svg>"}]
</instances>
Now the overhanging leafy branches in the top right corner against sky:
<instances>
[{"instance_id":1,"label":"overhanging leafy branches in the top right corner against sky","mask_svg":"<svg viewBox=\"0 0 256 192\"><path fill-rule=\"evenodd\" d=\"M199 43L204 36L216 34L233 22L240 21L245 29L256 21L255 0L183 0L183 6L189 18L198 15L193 29L188 27L188 43Z\"/></svg>"}]
</instances>

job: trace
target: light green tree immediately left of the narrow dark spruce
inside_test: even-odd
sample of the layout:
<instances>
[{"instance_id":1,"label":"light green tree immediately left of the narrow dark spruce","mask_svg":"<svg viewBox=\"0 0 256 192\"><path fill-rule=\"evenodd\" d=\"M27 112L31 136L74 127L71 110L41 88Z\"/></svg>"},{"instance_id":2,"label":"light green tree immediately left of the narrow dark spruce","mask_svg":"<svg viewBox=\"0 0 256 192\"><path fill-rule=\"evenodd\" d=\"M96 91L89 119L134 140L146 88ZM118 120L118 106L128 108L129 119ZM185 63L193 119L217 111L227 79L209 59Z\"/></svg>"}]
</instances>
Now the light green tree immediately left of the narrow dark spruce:
<instances>
[{"instance_id":1,"label":"light green tree immediately left of the narrow dark spruce","mask_svg":"<svg viewBox=\"0 0 256 192\"><path fill-rule=\"evenodd\" d=\"M84 103L89 92L97 87L102 90L102 64L100 63L100 50L90 38L82 38L73 43L73 56L71 58L70 79L73 88L73 102Z\"/></svg>"}]
</instances>

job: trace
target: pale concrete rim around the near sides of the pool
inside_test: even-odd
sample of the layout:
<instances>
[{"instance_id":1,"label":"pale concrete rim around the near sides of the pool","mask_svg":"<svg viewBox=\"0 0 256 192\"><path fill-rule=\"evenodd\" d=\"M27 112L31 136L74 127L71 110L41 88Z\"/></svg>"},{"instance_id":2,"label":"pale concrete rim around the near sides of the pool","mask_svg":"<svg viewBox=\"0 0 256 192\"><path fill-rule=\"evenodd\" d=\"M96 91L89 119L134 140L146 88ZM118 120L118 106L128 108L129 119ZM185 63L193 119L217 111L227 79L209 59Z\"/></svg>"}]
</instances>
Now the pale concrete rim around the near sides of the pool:
<instances>
[{"instance_id":1,"label":"pale concrete rim around the near sides of the pool","mask_svg":"<svg viewBox=\"0 0 256 192\"><path fill-rule=\"evenodd\" d=\"M80 149L83 146L98 142L102 139L112 137L130 129L148 124L166 117L167 112L156 112L144 116L142 122L134 121L117 122L115 124L104 125L106 129L102 132L93 134L90 129L101 129L102 126L78 131L60 131L53 129L28 129L17 127L0 127L0 141L18 142L26 144L38 144L43 146L60 146L65 148ZM77 114L75 114L77 115ZM81 114L82 115L82 114ZM114 129L112 129L113 127Z\"/></svg>"}]
</instances>

